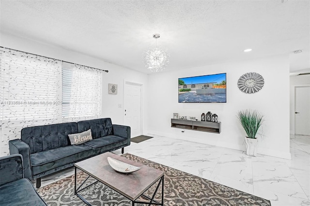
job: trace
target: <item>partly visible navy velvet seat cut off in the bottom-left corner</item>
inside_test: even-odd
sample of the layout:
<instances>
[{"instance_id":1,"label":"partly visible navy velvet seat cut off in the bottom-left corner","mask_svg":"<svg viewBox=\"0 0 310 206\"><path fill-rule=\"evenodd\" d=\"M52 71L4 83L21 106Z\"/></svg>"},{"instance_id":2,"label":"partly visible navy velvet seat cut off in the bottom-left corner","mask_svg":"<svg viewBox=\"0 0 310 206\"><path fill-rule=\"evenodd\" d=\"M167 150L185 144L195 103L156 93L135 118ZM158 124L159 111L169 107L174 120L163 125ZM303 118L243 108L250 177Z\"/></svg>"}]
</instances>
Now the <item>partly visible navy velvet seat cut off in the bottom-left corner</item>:
<instances>
[{"instance_id":1,"label":"partly visible navy velvet seat cut off in the bottom-left corner","mask_svg":"<svg viewBox=\"0 0 310 206\"><path fill-rule=\"evenodd\" d=\"M24 178L20 154L0 158L0 206L47 206L31 181Z\"/></svg>"}]
</instances>

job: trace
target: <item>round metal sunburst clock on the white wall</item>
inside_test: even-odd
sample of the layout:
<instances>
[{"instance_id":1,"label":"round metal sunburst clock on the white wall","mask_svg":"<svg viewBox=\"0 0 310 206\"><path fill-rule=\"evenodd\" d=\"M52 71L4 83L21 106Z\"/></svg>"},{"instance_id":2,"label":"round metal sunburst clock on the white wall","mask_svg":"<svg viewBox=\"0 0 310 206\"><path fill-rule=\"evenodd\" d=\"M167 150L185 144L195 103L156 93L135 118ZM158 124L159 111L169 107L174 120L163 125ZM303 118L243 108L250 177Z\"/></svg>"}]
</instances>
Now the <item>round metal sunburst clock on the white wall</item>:
<instances>
[{"instance_id":1,"label":"round metal sunburst clock on the white wall","mask_svg":"<svg viewBox=\"0 0 310 206\"><path fill-rule=\"evenodd\" d=\"M263 76L255 72L249 72L240 76L238 80L238 88L247 94L258 92L263 88Z\"/></svg>"}]
</instances>

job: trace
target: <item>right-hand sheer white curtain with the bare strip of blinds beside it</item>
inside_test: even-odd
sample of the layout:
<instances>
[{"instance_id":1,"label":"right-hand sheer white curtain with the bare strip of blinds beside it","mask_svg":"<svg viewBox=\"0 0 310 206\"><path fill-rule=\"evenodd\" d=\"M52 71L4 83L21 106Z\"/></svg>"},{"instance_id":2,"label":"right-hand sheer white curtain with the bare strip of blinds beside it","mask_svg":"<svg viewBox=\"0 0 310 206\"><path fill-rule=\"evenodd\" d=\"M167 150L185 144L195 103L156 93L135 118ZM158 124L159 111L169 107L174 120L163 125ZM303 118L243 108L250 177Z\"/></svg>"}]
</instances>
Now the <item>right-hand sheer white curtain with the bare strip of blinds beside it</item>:
<instances>
[{"instance_id":1,"label":"right-hand sheer white curtain with the bare strip of blinds beside it","mask_svg":"<svg viewBox=\"0 0 310 206\"><path fill-rule=\"evenodd\" d=\"M63 122L101 116L102 71L62 62Z\"/></svg>"}]
</instances>

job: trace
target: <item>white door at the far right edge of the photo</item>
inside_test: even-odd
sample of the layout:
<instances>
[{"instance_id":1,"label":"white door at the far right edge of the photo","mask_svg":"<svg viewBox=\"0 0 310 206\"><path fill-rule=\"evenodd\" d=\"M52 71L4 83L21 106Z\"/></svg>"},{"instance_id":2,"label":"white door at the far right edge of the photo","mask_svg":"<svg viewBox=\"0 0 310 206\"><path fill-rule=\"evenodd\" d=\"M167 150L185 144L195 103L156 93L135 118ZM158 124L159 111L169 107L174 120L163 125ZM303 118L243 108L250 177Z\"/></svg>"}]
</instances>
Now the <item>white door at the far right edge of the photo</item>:
<instances>
[{"instance_id":1,"label":"white door at the far right edge of the photo","mask_svg":"<svg viewBox=\"0 0 310 206\"><path fill-rule=\"evenodd\" d=\"M310 135L310 87L295 87L295 134Z\"/></svg>"}]
</instances>

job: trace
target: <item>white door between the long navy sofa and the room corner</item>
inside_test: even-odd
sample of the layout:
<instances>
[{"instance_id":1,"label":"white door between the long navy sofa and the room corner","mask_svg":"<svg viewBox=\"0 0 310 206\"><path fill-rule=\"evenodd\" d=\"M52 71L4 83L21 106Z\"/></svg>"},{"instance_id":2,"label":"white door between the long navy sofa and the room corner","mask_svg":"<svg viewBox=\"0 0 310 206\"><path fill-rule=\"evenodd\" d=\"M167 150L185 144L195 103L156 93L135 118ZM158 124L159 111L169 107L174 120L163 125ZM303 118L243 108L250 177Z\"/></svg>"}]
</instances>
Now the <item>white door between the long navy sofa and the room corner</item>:
<instances>
[{"instance_id":1,"label":"white door between the long navy sofa and the room corner","mask_svg":"<svg viewBox=\"0 0 310 206\"><path fill-rule=\"evenodd\" d=\"M124 84L124 125L131 128L131 137L141 135L141 85Z\"/></svg>"}]
</instances>

